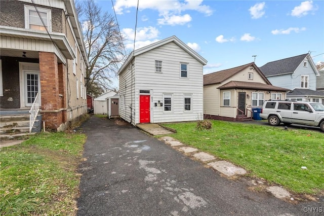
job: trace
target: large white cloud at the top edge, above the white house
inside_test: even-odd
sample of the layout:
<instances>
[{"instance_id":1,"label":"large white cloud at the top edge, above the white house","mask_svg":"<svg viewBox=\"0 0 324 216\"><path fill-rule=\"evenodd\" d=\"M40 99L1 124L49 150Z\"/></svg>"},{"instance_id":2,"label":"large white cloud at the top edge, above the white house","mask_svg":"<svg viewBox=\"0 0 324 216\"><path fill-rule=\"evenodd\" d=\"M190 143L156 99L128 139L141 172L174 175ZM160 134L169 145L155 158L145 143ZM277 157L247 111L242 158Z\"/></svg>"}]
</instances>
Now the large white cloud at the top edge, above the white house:
<instances>
[{"instance_id":1,"label":"large white cloud at the top edge, above the white house","mask_svg":"<svg viewBox=\"0 0 324 216\"><path fill-rule=\"evenodd\" d=\"M158 23L161 25L183 25L191 21L189 14L182 15L187 10L198 11L210 16L213 14L212 9L207 5L202 5L203 0L141 0L139 2L139 10L151 9L158 11ZM117 0L115 3L115 11L117 14L123 14L124 10L136 8L137 1L134 0Z\"/></svg>"}]
</instances>

